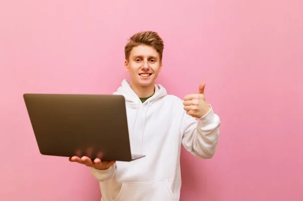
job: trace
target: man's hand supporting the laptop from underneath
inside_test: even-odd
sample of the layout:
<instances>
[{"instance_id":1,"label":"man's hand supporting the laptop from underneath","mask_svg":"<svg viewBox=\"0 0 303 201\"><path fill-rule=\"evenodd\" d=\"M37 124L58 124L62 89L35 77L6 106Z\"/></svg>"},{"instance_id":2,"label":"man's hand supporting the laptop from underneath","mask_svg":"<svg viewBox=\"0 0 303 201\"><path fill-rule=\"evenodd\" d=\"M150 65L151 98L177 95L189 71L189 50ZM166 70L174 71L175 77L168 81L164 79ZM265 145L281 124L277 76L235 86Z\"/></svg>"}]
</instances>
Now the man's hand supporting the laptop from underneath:
<instances>
[{"instance_id":1,"label":"man's hand supporting the laptop from underneath","mask_svg":"<svg viewBox=\"0 0 303 201\"><path fill-rule=\"evenodd\" d=\"M69 158L71 162L77 162L88 167L93 167L98 170L106 170L110 168L112 165L115 164L116 161L101 161L100 159L96 158L93 161L87 156L83 156L79 158L78 156L73 156Z\"/></svg>"}]
</instances>

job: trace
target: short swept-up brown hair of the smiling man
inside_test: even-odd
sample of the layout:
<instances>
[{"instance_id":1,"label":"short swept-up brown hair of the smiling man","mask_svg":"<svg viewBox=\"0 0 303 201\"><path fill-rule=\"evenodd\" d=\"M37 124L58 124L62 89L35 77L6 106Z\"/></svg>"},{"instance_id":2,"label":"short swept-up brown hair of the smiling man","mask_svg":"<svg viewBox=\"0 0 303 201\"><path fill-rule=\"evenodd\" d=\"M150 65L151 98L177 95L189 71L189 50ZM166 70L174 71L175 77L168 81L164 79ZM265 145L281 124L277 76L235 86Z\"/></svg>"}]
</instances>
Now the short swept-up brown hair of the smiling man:
<instances>
[{"instance_id":1,"label":"short swept-up brown hair of the smiling man","mask_svg":"<svg viewBox=\"0 0 303 201\"><path fill-rule=\"evenodd\" d=\"M131 50L138 45L148 45L154 47L160 56L162 61L164 44L162 38L158 33L154 31L138 32L128 39L128 43L125 45L125 59L128 60Z\"/></svg>"}]
</instances>

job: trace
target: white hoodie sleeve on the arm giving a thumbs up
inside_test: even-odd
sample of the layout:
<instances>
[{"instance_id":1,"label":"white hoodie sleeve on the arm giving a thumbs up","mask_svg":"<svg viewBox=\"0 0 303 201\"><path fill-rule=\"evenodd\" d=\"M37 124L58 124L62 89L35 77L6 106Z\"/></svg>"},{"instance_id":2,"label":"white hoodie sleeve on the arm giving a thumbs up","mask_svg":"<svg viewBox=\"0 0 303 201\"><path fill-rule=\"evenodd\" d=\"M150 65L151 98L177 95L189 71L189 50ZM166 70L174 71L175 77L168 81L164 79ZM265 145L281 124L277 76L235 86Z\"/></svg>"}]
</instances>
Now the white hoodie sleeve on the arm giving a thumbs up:
<instances>
[{"instance_id":1,"label":"white hoodie sleeve on the arm giving a thumbs up","mask_svg":"<svg viewBox=\"0 0 303 201\"><path fill-rule=\"evenodd\" d=\"M198 120L184 111L181 123L182 145L198 158L212 158L219 141L220 124L220 118L214 113L212 106L210 111Z\"/></svg>"}]
</instances>

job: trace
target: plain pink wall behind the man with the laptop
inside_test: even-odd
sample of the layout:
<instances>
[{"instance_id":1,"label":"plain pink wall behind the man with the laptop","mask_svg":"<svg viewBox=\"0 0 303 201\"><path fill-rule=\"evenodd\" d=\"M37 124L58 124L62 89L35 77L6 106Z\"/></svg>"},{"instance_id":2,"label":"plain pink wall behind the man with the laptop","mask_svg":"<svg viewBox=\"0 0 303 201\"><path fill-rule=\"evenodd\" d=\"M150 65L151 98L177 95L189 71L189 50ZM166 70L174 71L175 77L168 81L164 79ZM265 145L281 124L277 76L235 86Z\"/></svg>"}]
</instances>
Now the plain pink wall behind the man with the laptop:
<instances>
[{"instance_id":1,"label":"plain pink wall behind the man with the laptop","mask_svg":"<svg viewBox=\"0 0 303 201\"><path fill-rule=\"evenodd\" d=\"M23 93L112 93L126 39L165 41L159 83L183 98L205 81L218 151L182 151L182 201L303 200L303 2L1 1L0 199L99 200L89 169L39 154ZM127 77L128 78L128 77Z\"/></svg>"}]
</instances>

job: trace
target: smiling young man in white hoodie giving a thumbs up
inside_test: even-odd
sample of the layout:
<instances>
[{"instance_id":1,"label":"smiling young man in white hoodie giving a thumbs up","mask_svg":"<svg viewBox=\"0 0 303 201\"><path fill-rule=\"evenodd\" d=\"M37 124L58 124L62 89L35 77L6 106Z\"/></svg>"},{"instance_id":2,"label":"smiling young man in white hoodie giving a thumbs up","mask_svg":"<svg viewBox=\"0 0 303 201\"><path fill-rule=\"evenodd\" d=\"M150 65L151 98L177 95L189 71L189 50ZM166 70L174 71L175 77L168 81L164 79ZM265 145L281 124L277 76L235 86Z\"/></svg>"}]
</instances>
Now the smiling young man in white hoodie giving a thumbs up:
<instances>
[{"instance_id":1,"label":"smiling young man in white hoodie giving a thumbs up","mask_svg":"<svg viewBox=\"0 0 303 201\"><path fill-rule=\"evenodd\" d=\"M132 162L70 159L91 168L103 201L179 200L181 145L201 159L215 154L221 122L205 99L205 83L184 101L155 84L163 49L163 40L155 32L133 35L125 46L124 66L130 81L123 80L114 93L126 99L131 151L146 157Z\"/></svg>"}]
</instances>

